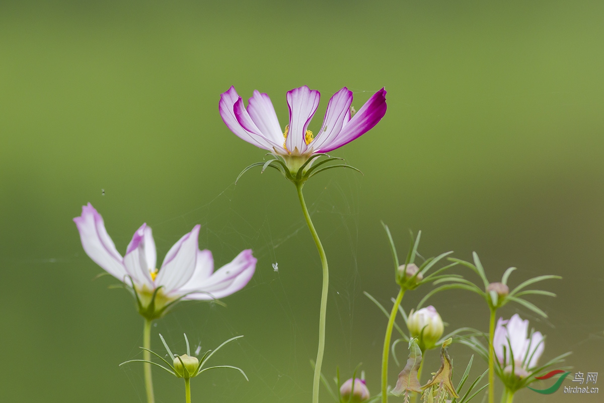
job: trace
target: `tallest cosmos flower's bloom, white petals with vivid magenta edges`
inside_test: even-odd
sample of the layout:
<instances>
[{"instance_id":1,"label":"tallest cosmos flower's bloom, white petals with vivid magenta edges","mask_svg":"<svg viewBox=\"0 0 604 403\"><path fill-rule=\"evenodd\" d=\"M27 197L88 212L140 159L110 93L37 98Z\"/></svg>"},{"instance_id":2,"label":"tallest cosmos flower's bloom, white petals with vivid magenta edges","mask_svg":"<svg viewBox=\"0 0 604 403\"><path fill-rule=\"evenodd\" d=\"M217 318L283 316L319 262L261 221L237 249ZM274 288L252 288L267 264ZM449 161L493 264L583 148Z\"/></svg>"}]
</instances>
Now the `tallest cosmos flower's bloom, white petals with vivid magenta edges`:
<instances>
[{"instance_id":1,"label":"tallest cosmos flower's bloom, white petals with vivid magenta edges","mask_svg":"<svg viewBox=\"0 0 604 403\"><path fill-rule=\"evenodd\" d=\"M386 113L386 91L382 88L351 118L352 91L344 87L329 100L323 126L315 135L308 126L320 97L319 91L306 85L288 91L289 124L285 127L279 124L271 98L259 91L254 91L245 108L242 98L231 86L220 95L219 111L234 134L286 160L296 156L307 159L313 153L326 153L344 146L369 131Z\"/></svg>"}]
</instances>

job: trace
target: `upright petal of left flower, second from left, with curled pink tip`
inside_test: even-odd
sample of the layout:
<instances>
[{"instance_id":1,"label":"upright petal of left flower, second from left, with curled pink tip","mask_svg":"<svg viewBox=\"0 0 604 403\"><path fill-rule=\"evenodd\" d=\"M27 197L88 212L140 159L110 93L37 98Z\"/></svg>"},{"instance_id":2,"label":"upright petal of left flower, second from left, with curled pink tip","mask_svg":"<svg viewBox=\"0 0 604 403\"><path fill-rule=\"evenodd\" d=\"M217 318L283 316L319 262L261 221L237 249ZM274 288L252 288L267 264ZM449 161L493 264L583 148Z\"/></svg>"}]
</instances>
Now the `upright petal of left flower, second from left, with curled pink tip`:
<instances>
[{"instance_id":1,"label":"upright petal of left flower, second from left, with curled pink tip","mask_svg":"<svg viewBox=\"0 0 604 403\"><path fill-rule=\"evenodd\" d=\"M126 249L126 256L124 256L126 271L136 285L146 285L149 289L155 288L149 269L155 269L156 259L155 241L151 228L147 227L147 224L143 224L132 236Z\"/></svg>"}]
</instances>

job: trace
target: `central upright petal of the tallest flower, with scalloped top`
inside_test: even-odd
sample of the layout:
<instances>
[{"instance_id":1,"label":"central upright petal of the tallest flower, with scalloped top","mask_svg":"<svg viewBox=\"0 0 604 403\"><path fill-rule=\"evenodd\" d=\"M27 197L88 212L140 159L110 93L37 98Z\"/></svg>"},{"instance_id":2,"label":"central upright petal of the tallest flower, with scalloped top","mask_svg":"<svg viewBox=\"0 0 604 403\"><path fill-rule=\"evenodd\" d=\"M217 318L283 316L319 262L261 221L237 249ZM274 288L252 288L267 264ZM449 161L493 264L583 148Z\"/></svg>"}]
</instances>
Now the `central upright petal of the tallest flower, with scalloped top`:
<instances>
[{"instance_id":1,"label":"central upright petal of the tallest flower, with scalloped top","mask_svg":"<svg viewBox=\"0 0 604 403\"><path fill-rule=\"evenodd\" d=\"M289 132L285 141L289 152L303 154L308 146L304 141L306 129L319 106L321 94L308 86L288 91Z\"/></svg>"}]
</instances>

